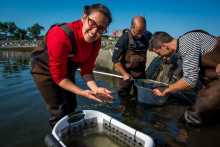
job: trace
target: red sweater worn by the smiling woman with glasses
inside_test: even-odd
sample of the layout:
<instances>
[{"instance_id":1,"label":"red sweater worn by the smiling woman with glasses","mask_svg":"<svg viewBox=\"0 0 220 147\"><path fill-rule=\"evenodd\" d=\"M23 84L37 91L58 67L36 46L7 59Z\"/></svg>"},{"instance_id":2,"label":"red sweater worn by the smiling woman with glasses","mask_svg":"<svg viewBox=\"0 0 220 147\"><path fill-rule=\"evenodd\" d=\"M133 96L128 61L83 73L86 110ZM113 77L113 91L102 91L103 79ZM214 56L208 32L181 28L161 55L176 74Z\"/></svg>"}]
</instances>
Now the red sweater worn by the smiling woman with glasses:
<instances>
[{"instance_id":1,"label":"red sweater worn by the smiling woman with glasses","mask_svg":"<svg viewBox=\"0 0 220 147\"><path fill-rule=\"evenodd\" d=\"M81 20L67 23L67 25L70 26L74 32L77 50L77 53L71 60L83 62L80 71L82 77L85 74L93 74L94 62L101 47L101 38L96 41L93 47L93 43L87 43L84 40ZM50 72L54 82L58 85L66 78L67 56L72 50L71 42L62 28L55 26L49 30L47 35L47 49L50 60Z\"/></svg>"}]
</instances>

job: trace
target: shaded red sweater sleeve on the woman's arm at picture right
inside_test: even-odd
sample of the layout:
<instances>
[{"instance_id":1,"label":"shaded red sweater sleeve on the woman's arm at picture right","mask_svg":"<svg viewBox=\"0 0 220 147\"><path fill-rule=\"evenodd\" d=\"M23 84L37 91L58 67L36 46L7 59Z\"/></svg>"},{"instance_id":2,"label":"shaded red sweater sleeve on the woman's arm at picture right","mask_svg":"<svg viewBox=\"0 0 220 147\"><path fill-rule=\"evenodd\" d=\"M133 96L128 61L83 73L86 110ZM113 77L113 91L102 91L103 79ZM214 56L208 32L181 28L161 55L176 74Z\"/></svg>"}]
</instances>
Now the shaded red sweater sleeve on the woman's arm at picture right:
<instances>
[{"instance_id":1,"label":"shaded red sweater sleeve on the woman's arm at picture right","mask_svg":"<svg viewBox=\"0 0 220 147\"><path fill-rule=\"evenodd\" d=\"M80 74L82 77L85 74L93 74L94 63L99 54L100 47L101 47L101 38L97 40L93 45L91 56L81 65Z\"/></svg>"}]
</instances>

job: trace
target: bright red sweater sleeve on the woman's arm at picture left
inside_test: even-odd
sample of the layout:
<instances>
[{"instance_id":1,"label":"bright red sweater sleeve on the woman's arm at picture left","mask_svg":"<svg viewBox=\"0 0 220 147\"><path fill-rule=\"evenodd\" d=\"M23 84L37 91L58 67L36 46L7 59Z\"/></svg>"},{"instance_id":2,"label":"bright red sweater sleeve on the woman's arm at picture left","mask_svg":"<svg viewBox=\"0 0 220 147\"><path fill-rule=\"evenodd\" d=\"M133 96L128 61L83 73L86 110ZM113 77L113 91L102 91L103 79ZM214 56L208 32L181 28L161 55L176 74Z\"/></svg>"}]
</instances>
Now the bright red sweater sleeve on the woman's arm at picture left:
<instances>
[{"instance_id":1,"label":"bright red sweater sleeve on the woman's arm at picture left","mask_svg":"<svg viewBox=\"0 0 220 147\"><path fill-rule=\"evenodd\" d=\"M64 31L54 27L47 35L47 49L51 76L58 85L67 74L67 62L70 43Z\"/></svg>"}]
</instances>

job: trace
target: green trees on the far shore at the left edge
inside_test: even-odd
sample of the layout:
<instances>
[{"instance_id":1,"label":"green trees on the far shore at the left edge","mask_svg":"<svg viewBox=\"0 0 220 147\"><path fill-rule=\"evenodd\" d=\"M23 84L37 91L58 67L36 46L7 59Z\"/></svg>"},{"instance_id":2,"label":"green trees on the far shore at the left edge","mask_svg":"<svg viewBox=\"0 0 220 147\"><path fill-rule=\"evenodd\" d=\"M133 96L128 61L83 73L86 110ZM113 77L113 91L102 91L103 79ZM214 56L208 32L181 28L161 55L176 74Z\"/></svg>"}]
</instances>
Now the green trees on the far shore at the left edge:
<instances>
[{"instance_id":1,"label":"green trees on the far shore at the left edge","mask_svg":"<svg viewBox=\"0 0 220 147\"><path fill-rule=\"evenodd\" d=\"M18 28L14 22L0 22L0 33L5 33L6 38L8 33L13 35L14 40L23 40L28 38L38 38L42 39L43 36L39 36L41 30L44 30L44 27L35 23L33 26L28 27L27 30Z\"/></svg>"}]
</instances>

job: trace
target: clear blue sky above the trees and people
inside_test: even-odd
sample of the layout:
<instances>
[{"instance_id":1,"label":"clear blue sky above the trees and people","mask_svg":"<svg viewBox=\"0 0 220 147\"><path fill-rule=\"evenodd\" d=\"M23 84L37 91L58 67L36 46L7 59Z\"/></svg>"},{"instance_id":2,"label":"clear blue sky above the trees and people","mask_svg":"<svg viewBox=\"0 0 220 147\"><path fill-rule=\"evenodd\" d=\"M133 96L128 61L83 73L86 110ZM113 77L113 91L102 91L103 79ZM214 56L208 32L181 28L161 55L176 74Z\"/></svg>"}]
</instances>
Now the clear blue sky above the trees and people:
<instances>
[{"instance_id":1,"label":"clear blue sky above the trees and people","mask_svg":"<svg viewBox=\"0 0 220 147\"><path fill-rule=\"evenodd\" d=\"M81 18L83 7L101 3L112 12L113 29L130 28L131 19L145 15L147 30L165 31L177 38L187 31L203 29L220 36L220 0L0 0L0 22L13 21L21 29L35 23L45 28L46 33L54 23L72 22Z\"/></svg>"}]
</instances>

